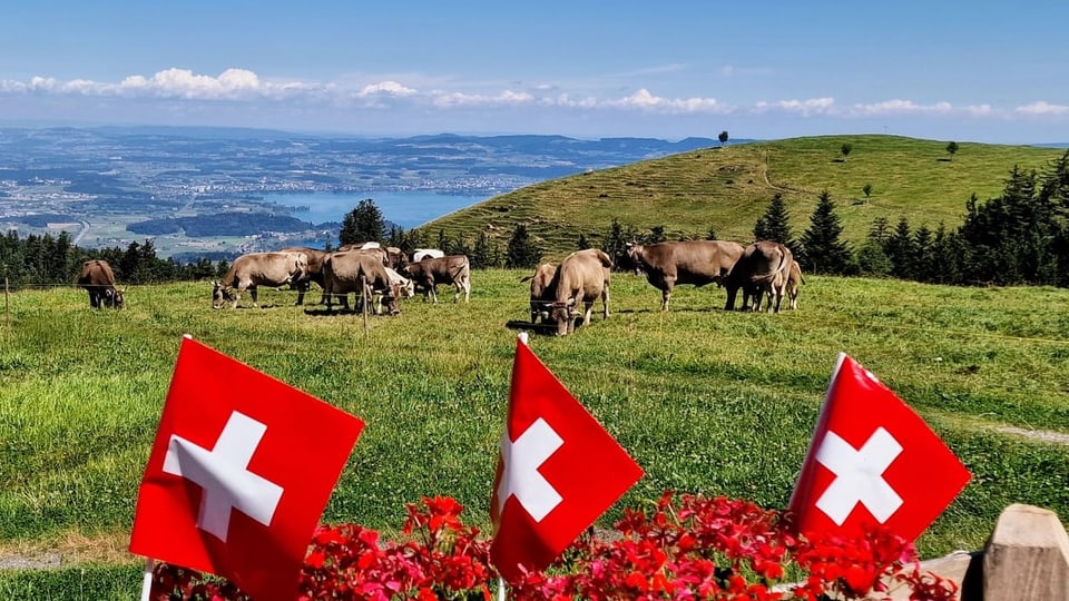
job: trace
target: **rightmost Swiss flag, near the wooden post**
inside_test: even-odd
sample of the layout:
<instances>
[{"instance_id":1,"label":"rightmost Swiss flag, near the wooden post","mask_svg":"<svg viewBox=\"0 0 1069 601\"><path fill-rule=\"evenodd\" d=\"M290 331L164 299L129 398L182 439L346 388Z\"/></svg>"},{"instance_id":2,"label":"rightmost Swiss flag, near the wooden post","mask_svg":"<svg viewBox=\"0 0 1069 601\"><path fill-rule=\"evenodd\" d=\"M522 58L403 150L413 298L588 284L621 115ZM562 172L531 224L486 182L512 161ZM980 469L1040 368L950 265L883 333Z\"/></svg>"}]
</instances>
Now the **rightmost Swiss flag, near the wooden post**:
<instances>
[{"instance_id":1,"label":"rightmost Swiss flag, near the wooden post","mask_svg":"<svg viewBox=\"0 0 1069 601\"><path fill-rule=\"evenodd\" d=\"M920 415L840 354L791 511L803 533L883 524L914 541L971 477Z\"/></svg>"}]
</instances>

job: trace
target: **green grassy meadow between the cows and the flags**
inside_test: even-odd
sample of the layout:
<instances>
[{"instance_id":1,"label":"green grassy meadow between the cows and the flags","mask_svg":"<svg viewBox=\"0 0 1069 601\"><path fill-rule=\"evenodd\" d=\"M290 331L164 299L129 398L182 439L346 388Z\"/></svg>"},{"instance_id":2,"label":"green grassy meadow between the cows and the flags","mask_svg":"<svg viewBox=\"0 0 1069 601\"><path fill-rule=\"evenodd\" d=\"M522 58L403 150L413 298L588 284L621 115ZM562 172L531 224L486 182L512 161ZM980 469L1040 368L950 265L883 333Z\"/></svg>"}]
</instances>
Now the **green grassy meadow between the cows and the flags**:
<instances>
[{"instance_id":1,"label":"green grassy meadow between the cows and the flags","mask_svg":"<svg viewBox=\"0 0 1069 601\"><path fill-rule=\"evenodd\" d=\"M404 503L440 494L488 526L526 273L477 270L470 304L408 299L367 332L287 290L213 311L207 282L130 287L121 312L90 309L76 288L13 293L0 315L0 558L59 551L75 575L0 571L0 597L62 599L53 581L101 574L133 574L117 599L137 590L125 545L186 333L366 422L324 521L395 533ZM785 506L841 351L973 473L920 539L923 556L982 548L1010 503L1069 518L1069 447L999 430L1069 434L1069 290L807 276L800 308L779 315L728 313L723 289L692 286L661 313L631 274L611 290L609 319L598 305L573 335L530 342L646 471L606 525L669 489Z\"/></svg>"}]
</instances>

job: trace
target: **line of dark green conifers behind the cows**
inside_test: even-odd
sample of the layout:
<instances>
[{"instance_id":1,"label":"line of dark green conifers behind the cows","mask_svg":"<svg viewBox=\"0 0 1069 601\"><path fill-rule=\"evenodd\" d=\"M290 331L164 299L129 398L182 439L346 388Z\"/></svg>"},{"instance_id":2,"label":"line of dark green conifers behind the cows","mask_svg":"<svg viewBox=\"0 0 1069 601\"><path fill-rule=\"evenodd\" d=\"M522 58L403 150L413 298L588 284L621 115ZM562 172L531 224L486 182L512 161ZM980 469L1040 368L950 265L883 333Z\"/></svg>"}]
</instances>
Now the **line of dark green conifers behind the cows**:
<instances>
[{"instance_id":1,"label":"line of dark green conifers behind the cows","mask_svg":"<svg viewBox=\"0 0 1069 601\"><path fill-rule=\"evenodd\" d=\"M866 193L867 196L867 193ZM447 254L467 255L472 268L532 268L548 249L541 248L524 224L518 224L502 248L486 231L474 237L450 237L439 230L437 237L422 229L389 231L382 211L371 198L361 200L345 215L339 245L380 242L406 254L416 248L440 248ZM786 203L778 194L769 200L754 226L754 239L784 243L806 273L896 277L950 285L1052 285L1069 287L1069 151L1043 169L1026 171L1014 167L1002 193L987 201L975 195L965 203L965 218L954 229L940 224L934 230L913 227L902 216L896 224L876 218L859 247L842 239L843 226L834 199L826 190L817 198L806 229L794 237ZM716 239L715 229L702 235ZM601 236L600 248L617 265L628 243L666 242L664 226L639 229L614 219ZM576 249L592 243L579 234ZM331 250L327 244L326 250ZM68 233L53 237L30 235L20 238L14 230L0 237L0 276L10 285L72 284L81 262L102 258L111 264L122 284L148 284L222 277L227 260L199 258L178 263L156 256L151 239L120 247L87 250L75 246Z\"/></svg>"}]
</instances>

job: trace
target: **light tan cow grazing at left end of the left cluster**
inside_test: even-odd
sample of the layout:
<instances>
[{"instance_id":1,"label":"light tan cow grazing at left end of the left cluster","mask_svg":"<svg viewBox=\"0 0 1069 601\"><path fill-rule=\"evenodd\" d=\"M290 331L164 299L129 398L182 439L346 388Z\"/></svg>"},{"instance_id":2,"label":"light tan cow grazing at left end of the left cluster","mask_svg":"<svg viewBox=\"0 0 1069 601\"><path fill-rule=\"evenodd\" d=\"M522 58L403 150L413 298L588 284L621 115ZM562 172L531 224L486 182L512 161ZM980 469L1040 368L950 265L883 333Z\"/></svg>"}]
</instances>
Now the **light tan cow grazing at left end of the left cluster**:
<instances>
[{"instance_id":1,"label":"light tan cow grazing at left end of the left cluster","mask_svg":"<svg viewBox=\"0 0 1069 601\"><path fill-rule=\"evenodd\" d=\"M231 302L231 308L237 308L237 302L244 290L256 302L256 287L278 288L305 278L308 257L304 253L249 253L234 259L234 264L223 276L222 282L212 283L212 308L223 308Z\"/></svg>"}]
</instances>

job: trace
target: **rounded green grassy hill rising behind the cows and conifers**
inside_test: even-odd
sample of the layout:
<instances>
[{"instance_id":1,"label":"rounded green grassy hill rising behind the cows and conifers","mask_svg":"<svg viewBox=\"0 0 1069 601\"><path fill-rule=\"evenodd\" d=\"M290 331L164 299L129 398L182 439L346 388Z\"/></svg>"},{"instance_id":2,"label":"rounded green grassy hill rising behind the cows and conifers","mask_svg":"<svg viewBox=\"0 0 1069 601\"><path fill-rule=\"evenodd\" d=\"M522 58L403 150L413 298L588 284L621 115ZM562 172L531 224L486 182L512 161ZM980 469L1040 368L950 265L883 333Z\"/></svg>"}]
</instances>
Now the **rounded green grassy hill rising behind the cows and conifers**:
<instances>
[{"instance_id":1,"label":"rounded green grassy hill rising behind the cows and conifers","mask_svg":"<svg viewBox=\"0 0 1069 601\"><path fill-rule=\"evenodd\" d=\"M851 145L844 158L842 148ZM582 233L598 244L617 219L639 231L664 226L669 239L705 237L747 243L768 200L781 193L795 236L808 226L821 190L837 201L843 237L860 242L876 217L893 226L959 225L965 201L998 196L1010 169L1042 169L1065 150L899 136L821 136L706 148L565 177L497 196L420 228L428 239L473 239L487 231L502 247L517 224L549 255L576 247ZM865 197L865 185L872 186Z\"/></svg>"}]
</instances>

